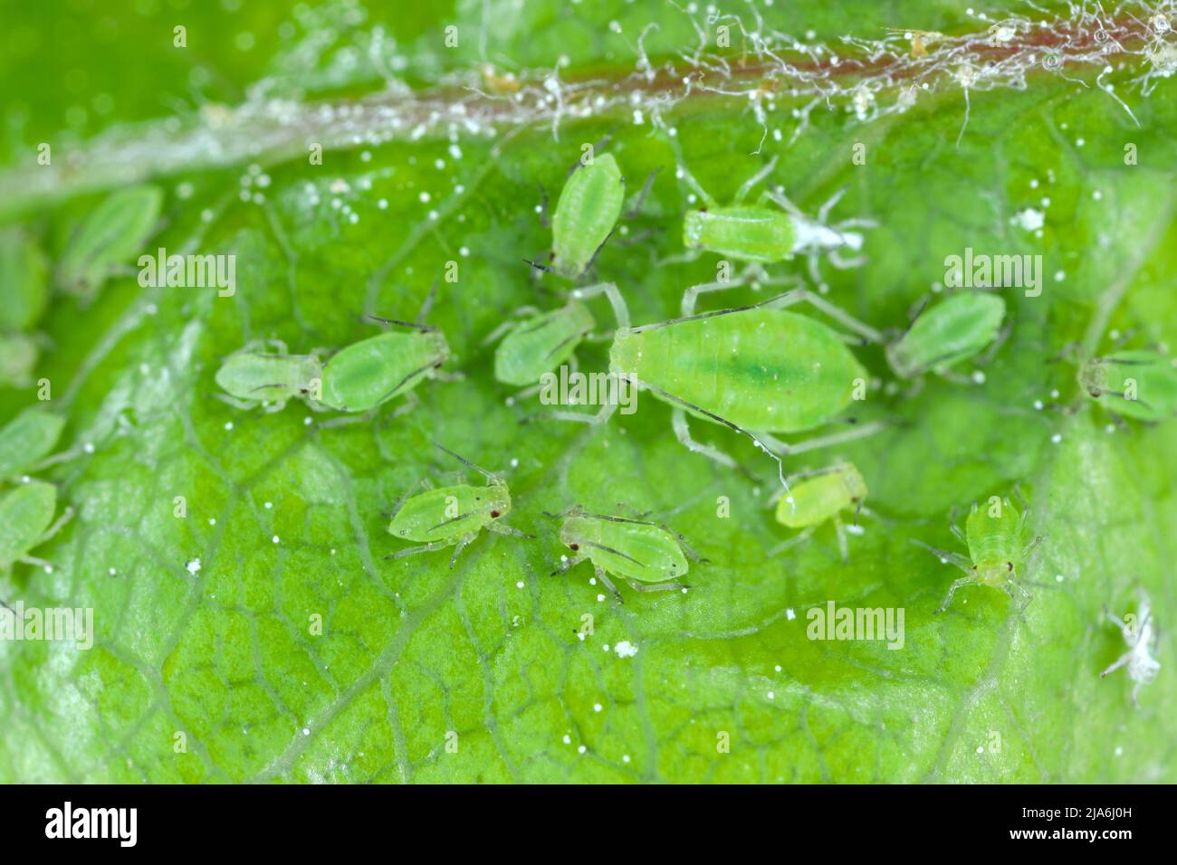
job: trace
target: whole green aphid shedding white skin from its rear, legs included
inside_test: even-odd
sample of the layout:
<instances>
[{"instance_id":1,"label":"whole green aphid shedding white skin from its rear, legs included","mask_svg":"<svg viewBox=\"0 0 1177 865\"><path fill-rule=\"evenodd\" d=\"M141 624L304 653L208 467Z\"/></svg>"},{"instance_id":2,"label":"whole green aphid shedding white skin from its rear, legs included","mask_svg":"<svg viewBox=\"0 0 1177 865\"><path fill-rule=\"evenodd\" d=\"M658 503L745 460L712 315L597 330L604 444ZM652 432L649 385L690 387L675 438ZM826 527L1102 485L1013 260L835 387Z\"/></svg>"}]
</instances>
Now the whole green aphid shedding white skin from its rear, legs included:
<instances>
[{"instance_id":1,"label":"whole green aphid shedding white skin from its rear, legs included","mask_svg":"<svg viewBox=\"0 0 1177 865\"><path fill-rule=\"evenodd\" d=\"M845 189L839 189L822 205L817 219L802 213L779 187L762 192L756 204L744 204L752 187L772 173L777 165L777 158L773 157L739 187L732 204L720 206L687 171L681 158L678 161L680 177L705 205L687 211L683 220L683 245L687 249L716 252L753 266L805 255L813 284L819 287L824 285L817 271L820 255L827 255L830 264L839 270L858 267L866 261L863 255L843 258L843 251L859 252L863 248L863 235L846 229L875 228L878 224L870 219L846 219L834 225L827 222L830 211L842 199Z\"/></svg>"}]
</instances>

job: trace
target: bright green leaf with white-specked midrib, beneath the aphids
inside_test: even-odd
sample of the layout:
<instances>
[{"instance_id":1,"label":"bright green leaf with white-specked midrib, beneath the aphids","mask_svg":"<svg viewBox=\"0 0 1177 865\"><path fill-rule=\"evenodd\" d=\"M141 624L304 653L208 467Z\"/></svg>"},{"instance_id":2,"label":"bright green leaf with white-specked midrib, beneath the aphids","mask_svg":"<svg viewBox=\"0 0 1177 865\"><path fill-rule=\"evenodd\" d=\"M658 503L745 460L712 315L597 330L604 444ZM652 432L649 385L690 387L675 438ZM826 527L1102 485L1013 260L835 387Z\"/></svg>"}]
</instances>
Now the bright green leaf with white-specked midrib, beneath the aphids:
<instances>
[{"instance_id":1,"label":"bright green leaf with white-specked midrib, beneath the aphids","mask_svg":"<svg viewBox=\"0 0 1177 865\"><path fill-rule=\"evenodd\" d=\"M21 39L8 39L35 53L0 60L24 100L7 109L0 211L51 260L106 192L149 180L165 219L144 253L232 254L237 267L232 297L142 288L131 268L85 311L54 297L39 324L51 347L34 378L51 382L77 451L42 474L77 515L33 551L52 573L18 565L0 597L92 608L95 633L88 650L0 641L0 779L1177 780L1164 636L1177 620L1177 426L1118 430L1099 407L1043 407L1079 405L1073 364L1052 361L1069 342L1093 353L1130 328L1141 345L1177 339L1177 101L1146 76L1164 68L1146 14L1100 19L1123 48L1113 58L1104 40L1070 39L1063 4L1036 13L1033 39L1015 27L1009 42L989 34L995 15L958 2L903 20L850 0L730 2L710 22L620 0L411 15L220 6L231 11L94 9L61 29L51 9L22 9ZM173 47L177 24L186 48ZM696 25L710 40L698 65ZM920 66L884 27L947 33L985 74L940 64L935 46ZM784 32L844 59L885 52L826 74L829 54L798 53ZM131 44L141 51L120 48ZM1042 46L1056 44L1064 62L1044 68ZM513 72L521 98L484 61ZM1105 64L1116 72L1100 78ZM699 74L690 94L687 73ZM148 74L158 93L141 87ZM912 107L887 111L920 80ZM832 111L805 87L826 88ZM540 186L554 201L583 142L612 137L631 192L664 169L596 262L634 322L677 315L686 286L714 279L714 255L681 260L691 201L669 128L720 201L772 155L773 181L806 213L846 187L831 219L879 222L864 232L870 261L820 273L827 299L876 327L902 328L947 255L1042 257L1040 295L1003 291L1012 335L983 385L871 390L859 414L885 418L884 432L786 459L862 470L872 513L847 564L829 525L767 555L787 531L767 505L776 466L746 439L693 424L757 480L686 451L650 394L603 427L520 424L538 400L510 405L513 388L493 379L484 337L568 287L521 259L548 248ZM34 162L41 141L52 166ZM314 142L322 165L308 162ZM1018 217L1028 208L1040 233ZM459 278L439 282L430 321L464 378L426 382L414 411L320 428L324 415L294 401L265 414L213 399L220 359L247 341L343 347L375 333L364 314L412 319L448 261ZM803 259L772 272L806 278ZM766 297L743 288L703 308ZM591 302L607 327L607 304ZM855 351L890 379L882 350ZM606 368L607 344L578 359ZM36 399L0 390L0 425ZM503 473L511 524L537 539L484 533L452 570L450 551L385 560L404 547L385 531L393 503L458 467L431 440ZM1044 539L1024 574L1032 599L969 587L933 616L955 572L911 540L957 550L950 511L1015 485ZM543 512L577 503L651 511L709 561L692 564L685 594L623 586L618 606L587 565L551 575L561 547ZM1162 628L1161 674L1138 710L1125 671L1099 678L1124 651L1102 607L1133 611L1137 586ZM829 601L902 608L903 647L810 639L809 611Z\"/></svg>"}]
</instances>

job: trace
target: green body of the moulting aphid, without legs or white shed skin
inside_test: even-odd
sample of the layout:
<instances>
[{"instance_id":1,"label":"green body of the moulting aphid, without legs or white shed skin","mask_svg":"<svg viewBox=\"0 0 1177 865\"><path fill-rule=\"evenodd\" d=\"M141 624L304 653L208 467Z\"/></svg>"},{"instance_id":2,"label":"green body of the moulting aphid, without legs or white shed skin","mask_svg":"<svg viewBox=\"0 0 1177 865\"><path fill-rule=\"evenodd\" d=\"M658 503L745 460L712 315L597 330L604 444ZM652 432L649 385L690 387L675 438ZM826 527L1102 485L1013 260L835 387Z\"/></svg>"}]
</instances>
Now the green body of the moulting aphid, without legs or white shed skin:
<instances>
[{"instance_id":1,"label":"green body of the moulting aphid, without legs or white shed skin","mask_svg":"<svg viewBox=\"0 0 1177 865\"><path fill-rule=\"evenodd\" d=\"M767 207L716 207L687 211L683 245L740 261L770 264L793 253L797 232L789 214Z\"/></svg>"}]
</instances>

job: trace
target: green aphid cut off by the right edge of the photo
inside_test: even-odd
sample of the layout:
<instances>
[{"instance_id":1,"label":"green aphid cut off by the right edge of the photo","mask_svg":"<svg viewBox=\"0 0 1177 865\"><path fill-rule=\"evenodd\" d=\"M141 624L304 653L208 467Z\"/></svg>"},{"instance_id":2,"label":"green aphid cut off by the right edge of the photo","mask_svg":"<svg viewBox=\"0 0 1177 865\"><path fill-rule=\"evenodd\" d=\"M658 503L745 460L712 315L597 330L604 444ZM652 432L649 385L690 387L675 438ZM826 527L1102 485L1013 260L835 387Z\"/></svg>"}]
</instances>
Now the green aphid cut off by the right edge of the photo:
<instances>
[{"instance_id":1,"label":"green aphid cut off by the right edge of the photo","mask_svg":"<svg viewBox=\"0 0 1177 865\"><path fill-rule=\"evenodd\" d=\"M1177 414L1177 359L1156 350L1116 351L1079 367L1079 387L1113 415L1162 421Z\"/></svg>"}]
</instances>

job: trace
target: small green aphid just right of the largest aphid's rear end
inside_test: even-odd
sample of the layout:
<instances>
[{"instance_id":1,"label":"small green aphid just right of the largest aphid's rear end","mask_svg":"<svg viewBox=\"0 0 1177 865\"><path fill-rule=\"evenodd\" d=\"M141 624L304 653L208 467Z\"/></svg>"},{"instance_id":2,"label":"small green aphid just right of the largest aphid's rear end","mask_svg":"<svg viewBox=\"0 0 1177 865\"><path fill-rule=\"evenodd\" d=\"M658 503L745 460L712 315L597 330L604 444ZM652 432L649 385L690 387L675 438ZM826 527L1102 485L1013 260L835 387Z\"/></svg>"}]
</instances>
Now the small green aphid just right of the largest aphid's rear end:
<instances>
[{"instance_id":1,"label":"small green aphid just right of the largest aphid's rear end","mask_svg":"<svg viewBox=\"0 0 1177 865\"><path fill-rule=\"evenodd\" d=\"M923 310L906 332L886 347L886 359L902 379L935 372L957 379L950 368L999 346L1005 300L989 292L957 292ZM966 380L966 379L965 379Z\"/></svg>"}]
</instances>

